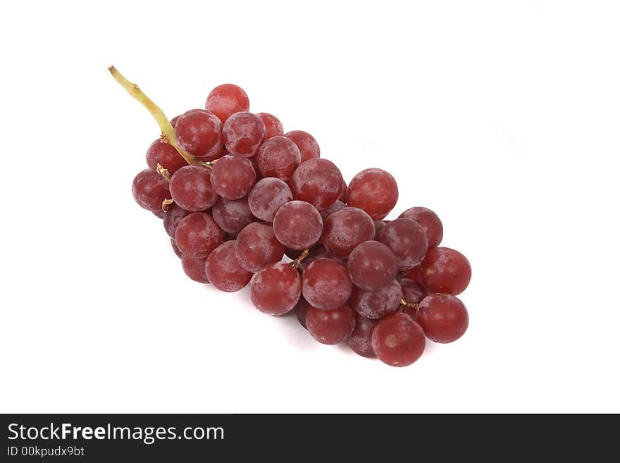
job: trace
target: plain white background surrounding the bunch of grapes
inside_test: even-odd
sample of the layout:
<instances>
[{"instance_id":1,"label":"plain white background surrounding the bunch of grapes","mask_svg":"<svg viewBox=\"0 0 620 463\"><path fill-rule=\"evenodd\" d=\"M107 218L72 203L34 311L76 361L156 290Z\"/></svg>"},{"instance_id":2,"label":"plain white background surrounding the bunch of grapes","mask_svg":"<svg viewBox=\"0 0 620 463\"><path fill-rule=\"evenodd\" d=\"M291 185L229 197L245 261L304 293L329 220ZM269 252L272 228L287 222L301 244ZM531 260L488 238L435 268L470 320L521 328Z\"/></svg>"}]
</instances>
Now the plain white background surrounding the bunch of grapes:
<instances>
[{"instance_id":1,"label":"plain white background surrounding the bunch of grapes","mask_svg":"<svg viewBox=\"0 0 620 463\"><path fill-rule=\"evenodd\" d=\"M130 4L131 3L131 4ZM616 1L9 2L1 412L620 412ZM464 252L470 328L394 369L189 280L131 181L235 82Z\"/></svg>"}]
</instances>

